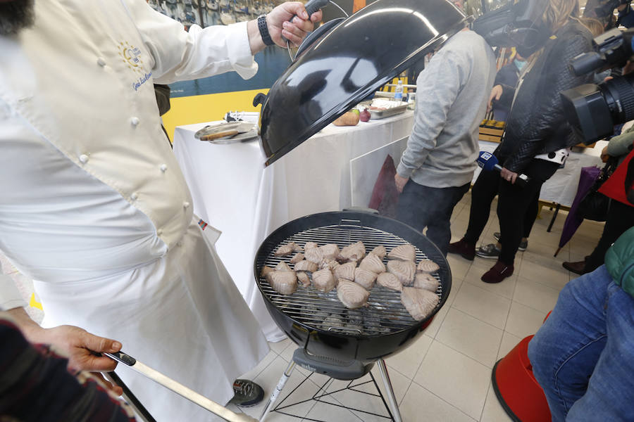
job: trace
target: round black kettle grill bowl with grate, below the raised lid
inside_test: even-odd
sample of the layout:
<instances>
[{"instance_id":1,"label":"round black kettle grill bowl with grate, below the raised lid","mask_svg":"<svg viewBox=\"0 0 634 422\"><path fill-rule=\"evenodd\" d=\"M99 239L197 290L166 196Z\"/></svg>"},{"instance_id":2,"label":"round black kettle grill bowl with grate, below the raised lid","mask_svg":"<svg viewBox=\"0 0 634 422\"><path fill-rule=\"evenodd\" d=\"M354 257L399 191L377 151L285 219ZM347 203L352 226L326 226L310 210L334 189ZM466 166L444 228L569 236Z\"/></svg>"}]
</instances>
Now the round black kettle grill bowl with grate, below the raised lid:
<instances>
[{"instance_id":1,"label":"round black kettle grill bowl with grate, below the raised lid","mask_svg":"<svg viewBox=\"0 0 634 422\"><path fill-rule=\"evenodd\" d=\"M416 247L417 261L427 257L440 266L435 274L440 281L437 290L440 302L427 318L416 321L401 304L399 292L378 285L371 290L370 307L354 310L339 302L335 290L321 293L312 286L298 287L292 295L280 295L260 277L260 271L264 265L275 267L280 260L288 262L290 256L275 257L273 252L290 241L302 246L306 241L319 245L337 243L340 248L363 241L368 251L377 245L384 245L389 251L394 246L411 243ZM387 217L346 211L308 215L275 230L256 254L254 276L273 320L299 347L317 356L364 363L387 357L409 345L445 304L452 284L447 260L419 231ZM329 321L325 321L327 318ZM337 326L337 319L343 327Z\"/></svg>"}]
</instances>

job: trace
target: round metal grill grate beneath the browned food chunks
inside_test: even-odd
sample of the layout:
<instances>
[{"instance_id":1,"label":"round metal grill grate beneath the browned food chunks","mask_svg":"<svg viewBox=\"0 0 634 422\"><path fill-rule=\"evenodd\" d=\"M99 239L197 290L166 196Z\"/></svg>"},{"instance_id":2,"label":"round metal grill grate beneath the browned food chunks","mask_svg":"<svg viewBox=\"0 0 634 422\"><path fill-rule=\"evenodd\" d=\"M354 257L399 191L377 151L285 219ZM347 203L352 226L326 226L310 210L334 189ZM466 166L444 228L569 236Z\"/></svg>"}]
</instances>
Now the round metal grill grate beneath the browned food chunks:
<instances>
[{"instance_id":1,"label":"round metal grill grate beneath the browned food chunks","mask_svg":"<svg viewBox=\"0 0 634 422\"><path fill-rule=\"evenodd\" d=\"M316 242L320 246L326 243L337 243L340 248L362 241L368 252L379 245L383 245L389 252L398 245L408 243L386 231L342 220L341 224L307 229L286 238L271 250L271 254L266 257L263 264L269 267L275 267L280 261L290 264L292 255L275 257L273 252L280 245L289 242L295 242L304 248L306 242L309 241ZM416 262L426 258L425 252L416 248ZM384 259L383 263L386 262L387 260ZM292 267L292 264L290 265ZM306 274L311 277L311 273ZM433 276L440 281L439 274L433 274ZM395 333L419 324L419 321L413 319L402 305L400 292L378 284L375 284L370 290L369 307L347 309L337 298L336 289L329 293L323 293L313 288L312 285L307 288L299 286L292 295L281 295L273 290L263 277L260 277L258 282L263 293L273 302L275 307L294 321L311 329L347 335L371 336ZM436 293L442 297L442 283L440 283Z\"/></svg>"}]
</instances>

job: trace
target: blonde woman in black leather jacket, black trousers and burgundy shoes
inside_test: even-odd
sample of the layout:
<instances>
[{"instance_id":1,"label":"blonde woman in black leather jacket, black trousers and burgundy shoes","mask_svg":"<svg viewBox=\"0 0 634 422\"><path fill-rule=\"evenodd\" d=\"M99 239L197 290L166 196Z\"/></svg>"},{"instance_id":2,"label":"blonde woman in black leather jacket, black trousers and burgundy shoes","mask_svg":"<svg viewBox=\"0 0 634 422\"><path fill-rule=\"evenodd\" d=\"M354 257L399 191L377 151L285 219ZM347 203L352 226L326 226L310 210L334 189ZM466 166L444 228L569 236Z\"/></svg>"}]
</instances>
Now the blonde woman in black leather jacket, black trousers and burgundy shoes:
<instances>
[{"instance_id":1,"label":"blonde woman in black leather jacket, black trousers and burgundy shoes","mask_svg":"<svg viewBox=\"0 0 634 422\"><path fill-rule=\"evenodd\" d=\"M561 16L557 19L557 15ZM473 185L471 213L464 237L449 245L449 252L468 260L475 256L475 244L489 217L493 198L499 194L497 215L502 250L496 264L482 276L486 283L499 283L513 274L514 259L521 241L522 221L530 201L542 184L559 168L566 148L580 140L564 117L560 91L589 83L592 75L578 77L568 65L580 53L592 51L592 34L578 20L576 0L551 0L545 19L552 28L541 53L528 63L517 87L497 85L499 101L512 103L502 143L494 155L502 172L481 172ZM559 155L557 153L559 152ZM515 184L518 174L526 174L527 186Z\"/></svg>"}]
</instances>

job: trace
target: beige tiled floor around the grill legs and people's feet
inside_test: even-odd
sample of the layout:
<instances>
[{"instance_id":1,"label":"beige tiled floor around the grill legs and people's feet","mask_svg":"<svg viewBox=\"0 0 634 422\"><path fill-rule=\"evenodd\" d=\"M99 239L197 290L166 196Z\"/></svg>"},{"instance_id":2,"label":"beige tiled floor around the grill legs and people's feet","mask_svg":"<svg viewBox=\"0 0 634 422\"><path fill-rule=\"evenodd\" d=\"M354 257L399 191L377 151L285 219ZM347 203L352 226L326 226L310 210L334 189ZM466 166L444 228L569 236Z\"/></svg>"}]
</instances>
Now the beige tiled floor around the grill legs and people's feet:
<instances>
[{"instance_id":1,"label":"beige tiled floor around the grill legs and people's feet","mask_svg":"<svg viewBox=\"0 0 634 422\"><path fill-rule=\"evenodd\" d=\"M454 240L461 237L468 222L470 194L459 203L452 217ZM480 239L493 241L499 231L495 204L492 218ZM450 255L453 285L449 299L433 323L416 343L386 360L394 394L404 421L510 421L495 397L491 385L491 370L522 338L537 331L547 312L557 301L559 290L575 277L561 267L561 262L581 260L594 248L602 231L602 224L584 222L557 257L553 257L559 243L566 212L560 212L552 232L546 229L552 211L542 208L541 219L535 222L526 252L518 252L515 273L502 283L490 285L480 281L494 260L476 257L473 262ZM247 377L260 383L271 393L282 372L290 362L296 345L290 340L271 343L271 352ZM373 374L380 384L375 366ZM307 375L296 369L281 397L290 392ZM369 376L361 378L361 382ZM290 398L293 402L308 399L325 381L323 376L312 376ZM341 388L335 382L331 390ZM360 389L367 388L364 385ZM383 386L381 386L383 388ZM379 399L360 393L346 392L333 395L335 402L350 407L368 409L385 414ZM237 410L235 407L234 410ZM258 417L263 404L242 409ZM288 409L289 413L323 421L385 421L359 411L352 412L330 404L306 402ZM278 413L268 421L300 421Z\"/></svg>"}]
</instances>

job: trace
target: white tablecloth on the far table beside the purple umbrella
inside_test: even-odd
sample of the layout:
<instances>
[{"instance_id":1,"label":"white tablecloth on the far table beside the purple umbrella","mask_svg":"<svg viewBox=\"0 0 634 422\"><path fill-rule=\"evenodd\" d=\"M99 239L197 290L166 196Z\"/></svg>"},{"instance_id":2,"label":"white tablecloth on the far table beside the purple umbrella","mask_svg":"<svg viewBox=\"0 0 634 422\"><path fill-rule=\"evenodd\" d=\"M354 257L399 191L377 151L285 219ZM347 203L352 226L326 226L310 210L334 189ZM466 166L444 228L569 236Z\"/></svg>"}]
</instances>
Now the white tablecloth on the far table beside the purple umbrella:
<instances>
[{"instance_id":1,"label":"white tablecloth on the far table beside the purple umbrella","mask_svg":"<svg viewBox=\"0 0 634 422\"><path fill-rule=\"evenodd\" d=\"M596 143L595 148L573 147L573 151L570 156L568 156L564 168L557 170L557 172L542 185L540 200L570 207L577 193L581 167L603 167L604 164L601 162L600 155L603 147L606 145L607 141L599 141ZM480 141L480 151L492 153L497 146L499 146L499 143ZM473 175L474 182L478 174L480 174L480 171L480 167L478 167L478 170L476 170Z\"/></svg>"}]
</instances>

